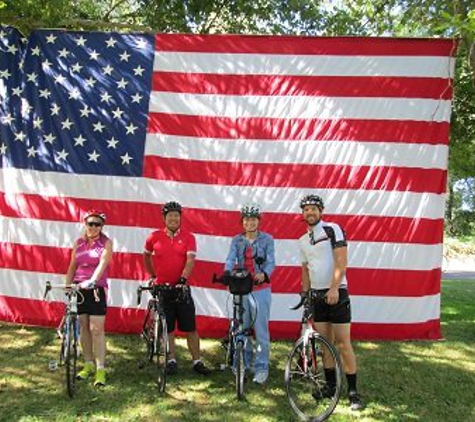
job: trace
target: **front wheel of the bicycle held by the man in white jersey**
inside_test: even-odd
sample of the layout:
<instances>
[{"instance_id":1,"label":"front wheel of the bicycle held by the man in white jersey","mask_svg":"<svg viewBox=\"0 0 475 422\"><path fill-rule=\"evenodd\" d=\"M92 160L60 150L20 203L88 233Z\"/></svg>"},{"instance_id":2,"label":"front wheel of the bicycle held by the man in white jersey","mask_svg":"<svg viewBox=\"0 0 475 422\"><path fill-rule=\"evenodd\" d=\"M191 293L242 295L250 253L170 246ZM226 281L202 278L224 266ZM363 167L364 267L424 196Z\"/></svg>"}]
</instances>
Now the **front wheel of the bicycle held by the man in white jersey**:
<instances>
[{"instance_id":1,"label":"front wheel of the bicycle held by the man in white jersey","mask_svg":"<svg viewBox=\"0 0 475 422\"><path fill-rule=\"evenodd\" d=\"M326 385L325 367L335 368L334 388ZM304 344L304 338L299 338L288 355L284 381L287 399L299 419L328 419L340 399L342 378L340 357L327 339L313 333Z\"/></svg>"}]
</instances>

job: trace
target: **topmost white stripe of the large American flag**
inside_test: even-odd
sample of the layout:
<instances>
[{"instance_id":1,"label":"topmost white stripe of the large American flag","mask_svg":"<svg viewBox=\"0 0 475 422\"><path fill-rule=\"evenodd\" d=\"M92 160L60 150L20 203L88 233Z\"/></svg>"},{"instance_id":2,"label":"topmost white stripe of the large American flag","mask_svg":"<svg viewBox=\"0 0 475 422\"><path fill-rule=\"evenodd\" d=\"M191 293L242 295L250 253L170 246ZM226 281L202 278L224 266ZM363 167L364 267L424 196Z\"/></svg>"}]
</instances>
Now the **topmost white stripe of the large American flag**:
<instances>
[{"instance_id":1,"label":"topmost white stripe of the large American flag","mask_svg":"<svg viewBox=\"0 0 475 422\"><path fill-rule=\"evenodd\" d=\"M390 52L388 52L390 53ZM230 75L452 78L455 59L431 56L330 56L155 52L154 70Z\"/></svg>"}]
</instances>

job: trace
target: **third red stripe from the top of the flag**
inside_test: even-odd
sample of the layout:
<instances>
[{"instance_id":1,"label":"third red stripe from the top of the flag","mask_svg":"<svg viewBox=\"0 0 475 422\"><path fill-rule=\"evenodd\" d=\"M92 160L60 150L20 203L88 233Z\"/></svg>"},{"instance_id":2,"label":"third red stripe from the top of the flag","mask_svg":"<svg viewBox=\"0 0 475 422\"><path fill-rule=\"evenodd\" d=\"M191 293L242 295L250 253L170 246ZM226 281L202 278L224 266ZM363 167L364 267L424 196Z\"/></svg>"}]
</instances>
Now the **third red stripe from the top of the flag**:
<instances>
[{"instance_id":1,"label":"third red stripe from the top of the flag","mask_svg":"<svg viewBox=\"0 0 475 422\"><path fill-rule=\"evenodd\" d=\"M225 139L322 140L447 145L448 122L319 120L150 113L148 132Z\"/></svg>"}]
</instances>

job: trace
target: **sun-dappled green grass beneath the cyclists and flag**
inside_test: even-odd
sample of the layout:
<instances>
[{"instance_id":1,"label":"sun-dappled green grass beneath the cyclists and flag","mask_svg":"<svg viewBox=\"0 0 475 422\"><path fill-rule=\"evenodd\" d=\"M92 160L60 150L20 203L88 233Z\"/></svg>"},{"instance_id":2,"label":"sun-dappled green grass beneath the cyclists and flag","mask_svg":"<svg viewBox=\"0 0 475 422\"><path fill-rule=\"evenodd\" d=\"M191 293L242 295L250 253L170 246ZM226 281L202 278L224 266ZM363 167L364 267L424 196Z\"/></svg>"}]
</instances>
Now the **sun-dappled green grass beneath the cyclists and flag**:
<instances>
[{"instance_id":1,"label":"sun-dappled green grass beneath the cyclists and flag","mask_svg":"<svg viewBox=\"0 0 475 422\"><path fill-rule=\"evenodd\" d=\"M351 414L340 402L332 421L475 421L475 281L442 284L444 341L357 342L360 389L367 407ZM218 365L218 341L202 341L204 357ZM138 368L138 336L108 336L109 384L81 382L74 399L64 372L48 370L59 341L53 330L0 325L0 420L2 421L292 421L283 391L290 343L275 342L269 385L247 385L238 402L229 372L195 375L182 340L180 375L158 396L153 368Z\"/></svg>"}]
</instances>

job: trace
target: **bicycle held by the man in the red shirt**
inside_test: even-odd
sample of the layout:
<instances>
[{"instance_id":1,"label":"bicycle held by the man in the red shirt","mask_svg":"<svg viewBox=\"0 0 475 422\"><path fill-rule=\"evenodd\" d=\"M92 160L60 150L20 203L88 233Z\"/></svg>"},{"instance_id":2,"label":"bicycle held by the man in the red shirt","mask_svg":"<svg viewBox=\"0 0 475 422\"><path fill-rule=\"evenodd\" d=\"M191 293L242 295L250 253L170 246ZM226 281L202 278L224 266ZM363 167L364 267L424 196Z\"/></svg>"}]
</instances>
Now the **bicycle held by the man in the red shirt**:
<instances>
[{"instance_id":1,"label":"bicycle held by the man in the red shirt","mask_svg":"<svg viewBox=\"0 0 475 422\"><path fill-rule=\"evenodd\" d=\"M137 306L140 305L143 291L150 292L152 297L147 304L141 337L145 340L147 346L147 360L149 362L155 360L158 391L163 393L167 384L167 362L170 353L164 296L166 294L176 294L177 288L169 284L150 286L147 282L146 285L137 288Z\"/></svg>"}]
</instances>

